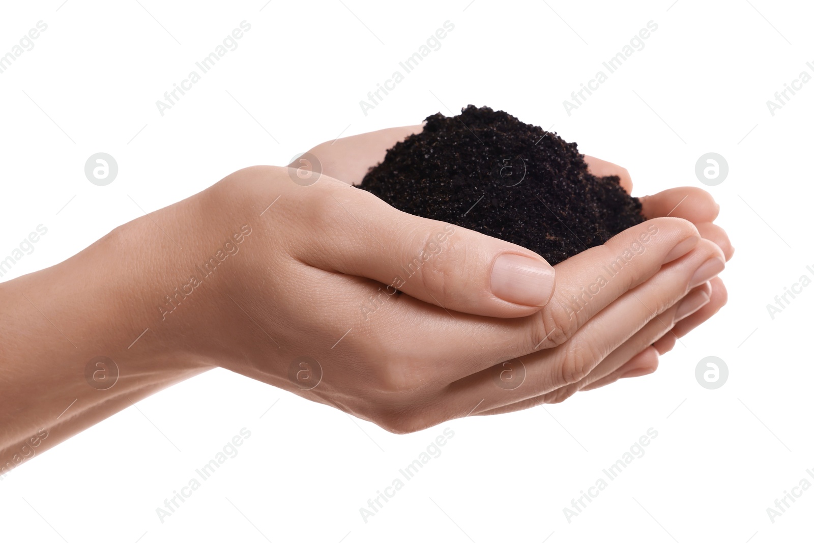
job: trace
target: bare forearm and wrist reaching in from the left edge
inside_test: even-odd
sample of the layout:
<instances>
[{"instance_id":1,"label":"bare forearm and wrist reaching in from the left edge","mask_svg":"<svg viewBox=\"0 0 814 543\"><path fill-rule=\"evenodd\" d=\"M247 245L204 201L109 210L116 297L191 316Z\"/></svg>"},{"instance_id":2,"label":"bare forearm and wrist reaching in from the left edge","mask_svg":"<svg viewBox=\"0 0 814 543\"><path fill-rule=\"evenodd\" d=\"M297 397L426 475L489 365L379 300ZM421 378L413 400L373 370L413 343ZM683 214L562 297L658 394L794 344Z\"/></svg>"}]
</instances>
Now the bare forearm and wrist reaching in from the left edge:
<instances>
[{"instance_id":1,"label":"bare forearm and wrist reaching in from the left edge","mask_svg":"<svg viewBox=\"0 0 814 543\"><path fill-rule=\"evenodd\" d=\"M194 205L151 213L0 284L0 472L211 367L194 342L177 340L191 336L195 300L185 315L160 310L173 308L166 296L198 253L185 231L205 237Z\"/></svg>"}]
</instances>

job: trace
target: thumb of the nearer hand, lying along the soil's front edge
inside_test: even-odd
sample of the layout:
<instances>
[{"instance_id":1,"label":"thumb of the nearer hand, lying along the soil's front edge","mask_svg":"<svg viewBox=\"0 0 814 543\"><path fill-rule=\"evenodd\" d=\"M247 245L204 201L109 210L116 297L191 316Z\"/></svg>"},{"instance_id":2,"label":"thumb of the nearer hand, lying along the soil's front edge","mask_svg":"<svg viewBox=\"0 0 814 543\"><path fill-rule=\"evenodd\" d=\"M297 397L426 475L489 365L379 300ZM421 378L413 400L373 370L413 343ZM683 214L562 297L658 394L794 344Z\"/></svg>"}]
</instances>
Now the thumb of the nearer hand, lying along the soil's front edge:
<instances>
[{"instance_id":1,"label":"thumb of the nearer hand, lying along the soil's front edge","mask_svg":"<svg viewBox=\"0 0 814 543\"><path fill-rule=\"evenodd\" d=\"M488 317L536 313L554 293L554 268L535 252L400 212L327 176L317 186L306 208L319 231L298 251L309 265L374 279L388 294L402 291Z\"/></svg>"}]
</instances>

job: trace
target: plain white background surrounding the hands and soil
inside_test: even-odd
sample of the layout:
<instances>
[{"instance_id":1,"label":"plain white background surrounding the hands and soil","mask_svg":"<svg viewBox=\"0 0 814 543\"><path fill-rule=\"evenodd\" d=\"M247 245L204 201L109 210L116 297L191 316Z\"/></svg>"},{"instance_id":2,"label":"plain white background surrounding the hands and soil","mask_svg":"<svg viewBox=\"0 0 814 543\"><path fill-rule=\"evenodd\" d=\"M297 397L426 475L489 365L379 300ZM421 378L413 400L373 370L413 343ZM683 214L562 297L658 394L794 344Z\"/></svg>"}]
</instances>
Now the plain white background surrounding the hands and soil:
<instances>
[{"instance_id":1,"label":"plain white background surrounding the hands and soil","mask_svg":"<svg viewBox=\"0 0 814 543\"><path fill-rule=\"evenodd\" d=\"M704 187L696 160L724 155L729 177L707 188L736 254L722 274L729 304L648 377L396 436L212 371L12 471L0 483L2 541L810 540L814 489L774 523L766 508L803 477L814 482L814 287L774 319L766 305L812 277L814 82L774 116L766 101L799 72L814 75L812 7L62 2L3 2L0 14L0 54L48 24L0 74L0 256L48 228L3 280L142 215L133 200L152 211L236 169L468 103L554 125L581 151L624 164L637 195ZM243 20L252 29L238 49L160 116L155 101ZM446 20L455 28L440 50L365 116L359 101ZM562 101L650 20L659 28L645 48L568 116ZM119 164L109 186L84 175L98 151ZM729 366L717 390L694 377L710 355ZM243 427L252 436L239 455L161 523L155 508ZM444 427L455 436L441 456L363 522L359 508ZM645 456L568 523L563 507L650 427L659 436Z\"/></svg>"}]
</instances>

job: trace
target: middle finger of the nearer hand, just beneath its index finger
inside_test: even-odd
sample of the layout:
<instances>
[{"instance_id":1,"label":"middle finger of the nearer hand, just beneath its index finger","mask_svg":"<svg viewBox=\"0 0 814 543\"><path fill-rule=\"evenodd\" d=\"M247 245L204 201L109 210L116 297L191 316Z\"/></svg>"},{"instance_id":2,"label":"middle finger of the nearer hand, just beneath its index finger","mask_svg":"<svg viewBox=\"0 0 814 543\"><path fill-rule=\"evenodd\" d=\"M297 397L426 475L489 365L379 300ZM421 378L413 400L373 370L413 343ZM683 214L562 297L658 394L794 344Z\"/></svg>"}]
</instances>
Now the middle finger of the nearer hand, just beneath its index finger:
<instances>
[{"instance_id":1,"label":"middle finger of the nearer hand, just beneath its index finger","mask_svg":"<svg viewBox=\"0 0 814 543\"><path fill-rule=\"evenodd\" d=\"M663 331L669 330L672 321L658 322L657 316L681 300L691 287L707 282L708 275L720 273L723 265L720 249L714 243L702 241L688 255L663 266L647 282L619 296L558 348L520 357L519 362L525 371L522 385L510 390L501 389L499 383L496 386L495 375L505 370L505 366L496 366L453 383L449 388L450 396L457 396L457 403L464 405L483 400L480 409L488 410L579 383L654 317L657 321L652 325L654 329L660 326ZM646 334L641 336L641 341L646 341ZM624 360L646 345L632 350ZM520 369L521 365L517 364L517 368Z\"/></svg>"}]
</instances>

